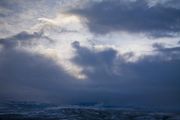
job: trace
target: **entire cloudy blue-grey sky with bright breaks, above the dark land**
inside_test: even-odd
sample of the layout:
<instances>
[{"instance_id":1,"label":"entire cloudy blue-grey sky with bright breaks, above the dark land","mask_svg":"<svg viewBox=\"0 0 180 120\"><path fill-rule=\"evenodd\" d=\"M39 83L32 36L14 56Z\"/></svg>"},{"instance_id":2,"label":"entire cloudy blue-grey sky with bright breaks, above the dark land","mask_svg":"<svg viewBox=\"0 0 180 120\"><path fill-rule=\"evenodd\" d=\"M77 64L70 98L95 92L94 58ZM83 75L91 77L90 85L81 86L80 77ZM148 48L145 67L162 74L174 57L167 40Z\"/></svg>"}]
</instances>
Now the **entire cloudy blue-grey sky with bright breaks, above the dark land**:
<instances>
[{"instance_id":1,"label":"entire cloudy blue-grey sky with bright breaks, above the dark land","mask_svg":"<svg viewBox=\"0 0 180 120\"><path fill-rule=\"evenodd\" d=\"M0 0L0 99L180 108L179 0Z\"/></svg>"}]
</instances>

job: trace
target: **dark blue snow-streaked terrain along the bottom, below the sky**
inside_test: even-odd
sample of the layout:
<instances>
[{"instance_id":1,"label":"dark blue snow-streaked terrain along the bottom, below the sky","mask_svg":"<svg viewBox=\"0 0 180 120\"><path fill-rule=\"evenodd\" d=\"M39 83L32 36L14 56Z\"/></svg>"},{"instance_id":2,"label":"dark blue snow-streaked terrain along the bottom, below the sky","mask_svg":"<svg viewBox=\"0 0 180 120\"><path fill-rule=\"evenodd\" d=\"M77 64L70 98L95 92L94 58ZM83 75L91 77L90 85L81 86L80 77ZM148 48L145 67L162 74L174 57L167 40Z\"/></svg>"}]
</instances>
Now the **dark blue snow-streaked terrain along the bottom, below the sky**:
<instances>
[{"instance_id":1,"label":"dark blue snow-streaked terrain along the bottom, below the sky","mask_svg":"<svg viewBox=\"0 0 180 120\"><path fill-rule=\"evenodd\" d=\"M0 104L0 120L180 120L180 113L6 102Z\"/></svg>"}]
</instances>

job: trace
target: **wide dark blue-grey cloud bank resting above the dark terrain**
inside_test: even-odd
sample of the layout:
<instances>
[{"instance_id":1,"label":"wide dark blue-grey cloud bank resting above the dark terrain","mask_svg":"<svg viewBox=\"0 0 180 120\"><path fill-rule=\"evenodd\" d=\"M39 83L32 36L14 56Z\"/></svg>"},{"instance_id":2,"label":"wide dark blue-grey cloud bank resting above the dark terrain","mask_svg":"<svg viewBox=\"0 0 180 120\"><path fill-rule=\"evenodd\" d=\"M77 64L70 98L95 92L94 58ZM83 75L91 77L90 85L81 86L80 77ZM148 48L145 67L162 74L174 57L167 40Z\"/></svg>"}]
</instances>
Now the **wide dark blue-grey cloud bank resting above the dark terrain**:
<instances>
[{"instance_id":1,"label":"wide dark blue-grey cloud bank resting above the dark terrain","mask_svg":"<svg viewBox=\"0 0 180 120\"><path fill-rule=\"evenodd\" d=\"M17 36L6 40L18 42L17 38L23 38L23 41L29 39ZM83 73L88 77L81 81L69 75L52 59L14 49L16 45L3 47L0 51L1 100L170 106L177 109L180 106L180 59L174 56L174 52L179 53L179 48L155 45L157 55L143 56L131 63L114 49L97 51L75 41L72 46L76 54L72 62L83 67ZM133 53L125 56L132 57ZM169 56L171 59L164 59Z\"/></svg>"}]
</instances>

